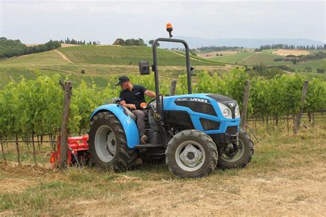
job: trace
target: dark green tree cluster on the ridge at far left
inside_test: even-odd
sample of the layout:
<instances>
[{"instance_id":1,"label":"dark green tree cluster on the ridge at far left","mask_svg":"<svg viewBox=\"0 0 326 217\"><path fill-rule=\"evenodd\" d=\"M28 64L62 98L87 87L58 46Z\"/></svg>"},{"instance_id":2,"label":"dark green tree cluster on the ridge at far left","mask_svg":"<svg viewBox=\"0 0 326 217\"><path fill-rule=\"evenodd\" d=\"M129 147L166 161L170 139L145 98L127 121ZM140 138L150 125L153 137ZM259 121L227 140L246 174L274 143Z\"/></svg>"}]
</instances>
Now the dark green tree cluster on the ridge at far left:
<instances>
[{"instance_id":1,"label":"dark green tree cluster on the ridge at far left","mask_svg":"<svg viewBox=\"0 0 326 217\"><path fill-rule=\"evenodd\" d=\"M10 58L12 56L21 56L24 54L34 54L46 52L61 47L59 41L52 41L43 45L26 46L19 40L11 40L5 37L0 38L0 58Z\"/></svg>"}]
</instances>

